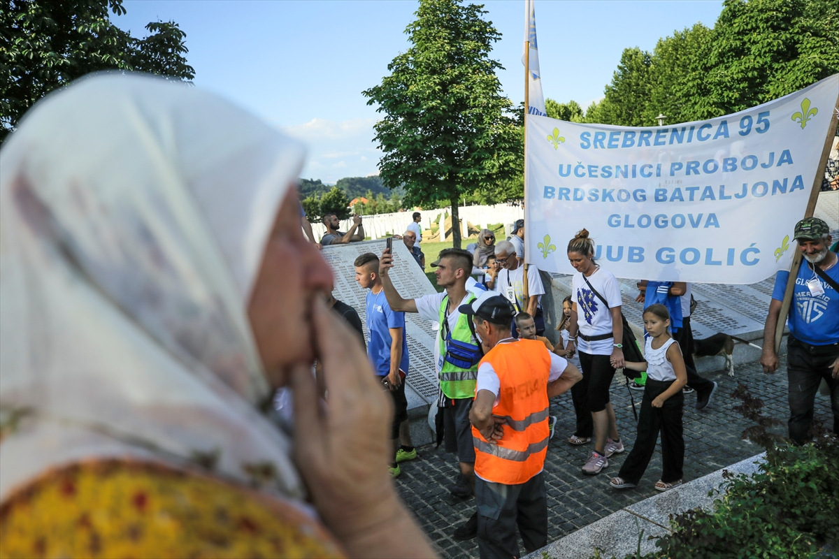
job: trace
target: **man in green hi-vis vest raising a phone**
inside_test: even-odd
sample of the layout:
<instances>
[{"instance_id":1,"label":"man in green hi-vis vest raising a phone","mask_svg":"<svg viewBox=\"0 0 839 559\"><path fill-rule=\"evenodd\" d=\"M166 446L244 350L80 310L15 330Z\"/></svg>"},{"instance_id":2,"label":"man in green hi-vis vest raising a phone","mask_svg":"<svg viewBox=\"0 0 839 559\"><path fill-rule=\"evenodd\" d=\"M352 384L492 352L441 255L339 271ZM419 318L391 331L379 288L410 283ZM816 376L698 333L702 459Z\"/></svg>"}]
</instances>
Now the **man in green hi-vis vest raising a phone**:
<instances>
[{"instance_id":1,"label":"man in green hi-vis vest raising a phone","mask_svg":"<svg viewBox=\"0 0 839 559\"><path fill-rule=\"evenodd\" d=\"M475 396L477 364L483 354L468 317L461 315L457 308L475 298L466 290L466 280L472 272L472 255L461 249L447 248L440 251L440 258L431 266L435 267L437 285L445 291L416 299L402 298L393 287L388 277L393 258L387 249L379 261L379 276L393 311L420 313L420 317L440 323L434 355L440 380L437 405L442 408L438 413L443 413L446 452L457 453L461 474L468 481L468 485L452 488L451 493L467 498L475 490L475 447L469 410ZM465 525L459 526L454 536L461 540L477 536L477 513Z\"/></svg>"}]
</instances>

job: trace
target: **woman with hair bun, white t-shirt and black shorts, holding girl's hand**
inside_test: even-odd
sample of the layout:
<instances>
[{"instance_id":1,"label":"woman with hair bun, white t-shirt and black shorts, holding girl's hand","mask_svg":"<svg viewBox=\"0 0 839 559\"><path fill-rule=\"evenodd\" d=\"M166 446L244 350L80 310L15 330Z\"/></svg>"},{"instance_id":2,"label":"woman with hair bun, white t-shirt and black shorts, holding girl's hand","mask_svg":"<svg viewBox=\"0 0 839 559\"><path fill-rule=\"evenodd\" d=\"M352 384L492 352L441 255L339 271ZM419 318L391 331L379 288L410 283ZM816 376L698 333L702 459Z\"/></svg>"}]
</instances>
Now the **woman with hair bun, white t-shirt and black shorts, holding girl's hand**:
<instances>
[{"instance_id":1,"label":"woman with hair bun, white t-shirt and black shorts, holding girl's hand","mask_svg":"<svg viewBox=\"0 0 839 559\"><path fill-rule=\"evenodd\" d=\"M568 260L577 271L571 280L571 323L565 355L572 357L579 338L582 380L571 390L577 414L577 432L571 444L585 444L594 435L594 450L583 474L600 474L607 458L623 453L609 386L615 369L623 367L621 289L612 273L594 261L594 240L581 230L568 243ZM612 364L614 364L612 366ZM591 414L591 420L589 420Z\"/></svg>"}]
</instances>

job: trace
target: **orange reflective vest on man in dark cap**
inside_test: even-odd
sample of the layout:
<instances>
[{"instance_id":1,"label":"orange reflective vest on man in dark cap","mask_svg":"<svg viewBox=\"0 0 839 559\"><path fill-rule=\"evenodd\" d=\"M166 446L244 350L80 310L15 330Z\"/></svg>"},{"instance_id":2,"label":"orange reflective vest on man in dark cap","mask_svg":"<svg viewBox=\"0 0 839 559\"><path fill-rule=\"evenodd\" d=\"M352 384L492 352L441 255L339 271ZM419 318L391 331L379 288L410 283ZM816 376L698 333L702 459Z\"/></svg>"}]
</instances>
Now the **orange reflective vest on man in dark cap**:
<instances>
[{"instance_id":1,"label":"orange reflective vest on man in dark cap","mask_svg":"<svg viewBox=\"0 0 839 559\"><path fill-rule=\"evenodd\" d=\"M506 417L498 444L487 443L472 427L475 473L497 484L524 484L545 466L548 452L550 353L533 339L503 342L483 356L498 375L500 391L493 416Z\"/></svg>"}]
</instances>

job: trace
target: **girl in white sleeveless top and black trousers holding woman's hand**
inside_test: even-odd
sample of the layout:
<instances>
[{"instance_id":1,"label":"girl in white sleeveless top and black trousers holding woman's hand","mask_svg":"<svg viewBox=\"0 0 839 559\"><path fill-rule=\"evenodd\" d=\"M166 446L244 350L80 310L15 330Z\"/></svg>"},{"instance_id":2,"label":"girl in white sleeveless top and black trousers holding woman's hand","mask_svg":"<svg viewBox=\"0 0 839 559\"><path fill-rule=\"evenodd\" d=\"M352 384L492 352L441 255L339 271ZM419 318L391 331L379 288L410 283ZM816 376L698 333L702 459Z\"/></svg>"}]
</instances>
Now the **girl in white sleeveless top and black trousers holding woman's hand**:
<instances>
[{"instance_id":1,"label":"girl in white sleeveless top and black trousers holding woman's hand","mask_svg":"<svg viewBox=\"0 0 839 559\"><path fill-rule=\"evenodd\" d=\"M685 439L682 437L682 413L685 396L682 387L687 383L685 360L679 344L670 337L670 314L664 305L650 305L644 311L644 329L649 333L644 350L645 361L626 361L623 366L632 370L646 370L644 400L638 417L638 437L632 452L621 467L617 478L609 484L615 489L638 485L644 470L653 457L655 442L661 432L661 479L655 489L666 491L682 483L685 463Z\"/></svg>"}]
</instances>

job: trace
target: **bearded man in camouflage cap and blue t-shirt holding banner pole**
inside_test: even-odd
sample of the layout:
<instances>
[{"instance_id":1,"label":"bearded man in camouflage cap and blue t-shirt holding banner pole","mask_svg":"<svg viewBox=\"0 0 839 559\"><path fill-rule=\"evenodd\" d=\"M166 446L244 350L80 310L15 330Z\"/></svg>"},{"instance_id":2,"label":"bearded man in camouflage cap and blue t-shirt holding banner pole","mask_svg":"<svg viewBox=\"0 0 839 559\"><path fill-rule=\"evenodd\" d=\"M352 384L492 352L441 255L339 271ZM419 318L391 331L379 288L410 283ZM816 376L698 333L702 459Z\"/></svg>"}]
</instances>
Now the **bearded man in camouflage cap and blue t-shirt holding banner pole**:
<instances>
[{"instance_id":1,"label":"bearded man in camouflage cap and blue t-shirt holding banner pole","mask_svg":"<svg viewBox=\"0 0 839 559\"><path fill-rule=\"evenodd\" d=\"M810 217L795 225L795 241L805 260L795 278L787 325L787 377L789 379L789 438L796 444L810 440L813 405L821 380L831 390L833 432L839 433L839 257L828 250L827 224ZM818 270L821 275L816 272ZM789 272L778 272L769 316L763 329L760 364L767 373L778 369L775 326L778 324ZM828 281L829 280L829 281ZM831 285L832 283L832 285Z\"/></svg>"}]
</instances>

